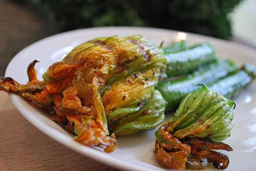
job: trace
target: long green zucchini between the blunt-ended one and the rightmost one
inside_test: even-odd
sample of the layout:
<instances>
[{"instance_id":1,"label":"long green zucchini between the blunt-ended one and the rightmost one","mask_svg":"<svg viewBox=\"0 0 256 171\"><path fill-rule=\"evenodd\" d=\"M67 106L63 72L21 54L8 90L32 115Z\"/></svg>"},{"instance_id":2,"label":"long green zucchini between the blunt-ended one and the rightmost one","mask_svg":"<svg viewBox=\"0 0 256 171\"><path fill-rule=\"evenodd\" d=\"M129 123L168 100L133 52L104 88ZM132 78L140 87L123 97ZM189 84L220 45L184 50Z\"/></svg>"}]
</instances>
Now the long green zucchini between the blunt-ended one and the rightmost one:
<instances>
[{"instance_id":1,"label":"long green zucchini between the blunt-ended one and the rightmost one","mask_svg":"<svg viewBox=\"0 0 256 171\"><path fill-rule=\"evenodd\" d=\"M198 84L211 85L218 79L226 77L229 73L238 70L238 66L230 60L218 60L216 63L201 67L198 71L177 80L160 82L156 89L160 91L167 101L166 111L177 108L187 94L198 90Z\"/></svg>"}]
</instances>

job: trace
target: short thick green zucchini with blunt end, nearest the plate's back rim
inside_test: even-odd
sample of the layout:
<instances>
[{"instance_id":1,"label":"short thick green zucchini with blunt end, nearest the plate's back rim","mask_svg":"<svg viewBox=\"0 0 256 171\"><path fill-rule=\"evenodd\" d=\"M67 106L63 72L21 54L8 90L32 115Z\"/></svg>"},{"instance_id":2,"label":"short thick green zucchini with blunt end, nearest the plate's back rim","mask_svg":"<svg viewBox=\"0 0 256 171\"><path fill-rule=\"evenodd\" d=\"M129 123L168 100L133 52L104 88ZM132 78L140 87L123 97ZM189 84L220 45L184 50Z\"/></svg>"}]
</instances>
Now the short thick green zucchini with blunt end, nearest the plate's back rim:
<instances>
[{"instance_id":1,"label":"short thick green zucchini with blunt end, nearest the plate's back rim","mask_svg":"<svg viewBox=\"0 0 256 171\"><path fill-rule=\"evenodd\" d=\"M165 53L165 57L168 63L168 77L187 74L217 59L215 50L209 43L202 43L183 51Z\"/></svg>"}]
</instances>

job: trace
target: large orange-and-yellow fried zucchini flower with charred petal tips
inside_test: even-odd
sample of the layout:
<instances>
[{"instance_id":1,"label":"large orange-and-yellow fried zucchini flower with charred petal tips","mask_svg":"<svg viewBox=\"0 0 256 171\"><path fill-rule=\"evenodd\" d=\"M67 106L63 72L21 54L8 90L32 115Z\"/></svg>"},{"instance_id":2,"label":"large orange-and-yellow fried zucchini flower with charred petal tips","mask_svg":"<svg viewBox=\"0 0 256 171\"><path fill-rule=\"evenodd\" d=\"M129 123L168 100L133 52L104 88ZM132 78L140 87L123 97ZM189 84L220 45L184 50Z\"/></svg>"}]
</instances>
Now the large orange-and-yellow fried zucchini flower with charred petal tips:
<instances>
[{"instance_id":1,"label":"large orange-and-yellow fried zucchini flower with charred petal tips","mask_svg":"<svg viewBox=\"0 0 256 171\"><path fill-rule=\"evenodd\" d=\"M100 37L74 48L49 66L38 81L34 65L29 83L1 77L0 90L14 92L49 110L84 145L116 148L114 134L150 129L164 119L165 100L154 87L166 77L163 51L140 35Z\"/></svg>"}]
</instances>

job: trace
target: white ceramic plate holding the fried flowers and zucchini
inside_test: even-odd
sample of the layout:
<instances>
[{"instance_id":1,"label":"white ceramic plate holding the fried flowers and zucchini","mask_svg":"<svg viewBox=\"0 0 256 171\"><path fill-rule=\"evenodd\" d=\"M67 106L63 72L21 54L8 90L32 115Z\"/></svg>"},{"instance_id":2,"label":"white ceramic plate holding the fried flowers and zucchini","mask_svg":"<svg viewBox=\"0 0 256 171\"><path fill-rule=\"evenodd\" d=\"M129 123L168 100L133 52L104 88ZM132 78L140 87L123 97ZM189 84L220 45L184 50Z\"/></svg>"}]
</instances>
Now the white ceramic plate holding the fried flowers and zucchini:
<instances>
[{"instance_id":1,"label":"white ceramic plate holding the fried flowers and zucchini","mask_svg":"<svg viewBox=\"0 0 256 171\"><path fill-rule=\"evenodd\" d=\"M39 60L36 64L38 77L49 65L61 60L76 45L95 37L111 35L142 34L159 45L161 41L166 44L172 42L177 36L177 31L159 28L140 27L100 27L68 31L56 34L40 40L20 51L9 63L6 69L6 77L12 77L20 83L27 82L26 67L33 60ZM245 62L256 64L256 50L237 43L206 37L198 34L187 34L190 44L210 42L217 49L219 57L232 58L239 65ZM156 171L164 170L154 159L154 130L140 131L134 135L117 137L119 147L111 154L102 152L102 148L91 148L73 141L70 134L64 131L51 120L49 114L42 111L23 98L10 94L12 102L20 113L36 128L52 137L62 145L73 149L87 157L99 162L111 165L122 170ZM256 83L254 82L246 91L243 91L235 99L235 126L231 137L226 142L234 149L225 152L230 158L227 170L256 170ZM43 148L43 147L38 147ZM215 170L212 165L207 165L208 170Z\"/></svg>"}]
</instances>

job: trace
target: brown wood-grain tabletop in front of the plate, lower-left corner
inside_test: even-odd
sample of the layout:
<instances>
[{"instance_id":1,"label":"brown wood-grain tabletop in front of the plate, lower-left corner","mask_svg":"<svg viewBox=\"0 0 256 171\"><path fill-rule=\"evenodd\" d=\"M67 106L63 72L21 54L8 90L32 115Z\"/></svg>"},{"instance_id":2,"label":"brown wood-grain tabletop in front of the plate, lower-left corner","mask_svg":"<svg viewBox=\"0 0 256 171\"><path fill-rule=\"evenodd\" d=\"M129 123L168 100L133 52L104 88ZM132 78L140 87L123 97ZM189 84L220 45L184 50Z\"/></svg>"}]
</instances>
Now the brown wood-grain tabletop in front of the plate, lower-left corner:
<instances>
[{"instance_id":1,"label":"brown wood-grain tabletop in front of the plate, lower-left corner","mask_svg":"<svg viewBox=\"0 0 256 171\"><path fill-rule=\"evenodd\" d=\"M47 137L0 92L0 170L117 171Z\"/></svg>"}]
</instances>

